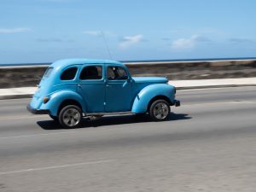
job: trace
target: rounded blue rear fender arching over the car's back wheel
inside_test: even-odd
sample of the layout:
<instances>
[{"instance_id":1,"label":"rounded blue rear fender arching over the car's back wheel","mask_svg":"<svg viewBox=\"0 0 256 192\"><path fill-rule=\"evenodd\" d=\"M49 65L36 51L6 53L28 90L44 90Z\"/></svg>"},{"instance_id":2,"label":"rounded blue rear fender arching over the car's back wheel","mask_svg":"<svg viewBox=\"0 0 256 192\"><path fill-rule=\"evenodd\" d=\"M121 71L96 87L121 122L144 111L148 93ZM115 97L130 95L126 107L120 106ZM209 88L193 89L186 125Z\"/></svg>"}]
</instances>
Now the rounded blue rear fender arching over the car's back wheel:
<instances>
[{"instance_id":1,"label":"rounded blue rear fender arching over the car's back wheel","mask_svg":"<svg viewBox=\"0 0 256 192\"><path fill-rule=\"evenodd\" d=\"M56 116L58 113L58 110L61 106L61 103L65 100L74 100L76 102L79 102L82 106L82 111L85 111L84 107L84 100L83 97L80 96L77 92L74 92L73 90L61 90L57 91L51 95L49 95L49 102L42 103L40 109L49 109L49 113L51 115Z\"/></svg>"}]
</instances>

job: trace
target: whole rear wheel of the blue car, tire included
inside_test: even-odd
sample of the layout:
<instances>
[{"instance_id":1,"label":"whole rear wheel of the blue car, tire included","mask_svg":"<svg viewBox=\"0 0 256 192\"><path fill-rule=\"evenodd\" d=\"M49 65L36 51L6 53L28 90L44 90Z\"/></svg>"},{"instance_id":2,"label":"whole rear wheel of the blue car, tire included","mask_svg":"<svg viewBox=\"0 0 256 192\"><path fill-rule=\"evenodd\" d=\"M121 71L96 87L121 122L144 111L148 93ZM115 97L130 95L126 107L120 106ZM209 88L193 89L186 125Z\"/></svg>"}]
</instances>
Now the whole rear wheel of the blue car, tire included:
<instances>
[{"instance_id":1,"label":"whole rear wheel of the blue car, tire included","mask_svg":"<svg viewBox=\"0 0 256 192\"><path fill-rule=\"evenodd\" d=\"M61 108L59 113L59 122L61 126L67 129L79 127L82 119L82 110L76 105L67 105Z\"/></svg>"}]
</instances>

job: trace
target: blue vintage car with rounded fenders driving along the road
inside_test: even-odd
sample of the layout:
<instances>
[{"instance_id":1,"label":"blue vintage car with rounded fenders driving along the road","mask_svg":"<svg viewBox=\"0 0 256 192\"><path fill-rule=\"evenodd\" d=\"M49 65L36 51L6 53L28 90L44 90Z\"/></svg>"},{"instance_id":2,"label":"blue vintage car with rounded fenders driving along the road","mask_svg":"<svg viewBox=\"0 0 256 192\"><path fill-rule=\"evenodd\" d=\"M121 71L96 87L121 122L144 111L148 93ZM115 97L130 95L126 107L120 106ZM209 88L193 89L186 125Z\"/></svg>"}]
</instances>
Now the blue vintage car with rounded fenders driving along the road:
<instances>
[{"instance_id":1,"label":"blue vintage car with rounded fenders driving along the road","mask_svg":"<svg viewBox=\"0 0 256 192\"><path fill-rule=\"evenodd\" d=\"M84 116L148 113L165 120L170 106L179 106L176 88L166 78L131 77L118 61L67 59L44 73L27 105L31 113L47 113L66 128L78 127Z\"/></svg>"}]
</instances>

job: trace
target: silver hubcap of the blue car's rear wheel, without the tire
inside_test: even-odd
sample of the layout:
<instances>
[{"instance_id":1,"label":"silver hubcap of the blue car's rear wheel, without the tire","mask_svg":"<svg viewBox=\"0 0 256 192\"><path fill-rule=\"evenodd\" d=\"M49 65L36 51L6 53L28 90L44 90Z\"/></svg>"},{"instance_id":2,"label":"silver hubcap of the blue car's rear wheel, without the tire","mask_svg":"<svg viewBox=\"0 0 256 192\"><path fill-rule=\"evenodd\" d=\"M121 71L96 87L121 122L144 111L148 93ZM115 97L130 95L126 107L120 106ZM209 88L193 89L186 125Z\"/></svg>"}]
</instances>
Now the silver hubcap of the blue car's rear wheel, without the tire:
<instances>
[{"instance_id":1,"label":"silver hubcap of the blue car's rear wheel, without the tire","mask_svg":"<svg viewBox=\"0 0 256 192\"><path fill-rule=\"evenodd\" d=\"M78 125L81 119L79 111L75 108L69 108L63 113L63 121L67 126Z\"/></svg>"}]
</instances>

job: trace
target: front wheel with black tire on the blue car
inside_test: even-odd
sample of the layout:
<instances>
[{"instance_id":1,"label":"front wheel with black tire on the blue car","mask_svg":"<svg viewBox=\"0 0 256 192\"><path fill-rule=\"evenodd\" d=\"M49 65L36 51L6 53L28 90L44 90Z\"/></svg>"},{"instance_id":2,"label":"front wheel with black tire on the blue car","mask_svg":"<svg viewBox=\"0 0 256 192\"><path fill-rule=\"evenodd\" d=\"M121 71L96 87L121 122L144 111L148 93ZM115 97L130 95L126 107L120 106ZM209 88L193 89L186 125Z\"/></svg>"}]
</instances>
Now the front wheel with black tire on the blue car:
<instances>
[{"instance_id":1,"label":"front wheel with black tire on the blue car","mask_svg":"<svg viewBox=\"0 0 256 192\"><path fill-rule=\"evenodd\" d=\"M170 105L166 100L156 100L150 105L148 113L150 118L154 121L166 120L171 113Z\"/></svg>"}]
</instances>

